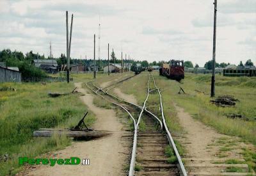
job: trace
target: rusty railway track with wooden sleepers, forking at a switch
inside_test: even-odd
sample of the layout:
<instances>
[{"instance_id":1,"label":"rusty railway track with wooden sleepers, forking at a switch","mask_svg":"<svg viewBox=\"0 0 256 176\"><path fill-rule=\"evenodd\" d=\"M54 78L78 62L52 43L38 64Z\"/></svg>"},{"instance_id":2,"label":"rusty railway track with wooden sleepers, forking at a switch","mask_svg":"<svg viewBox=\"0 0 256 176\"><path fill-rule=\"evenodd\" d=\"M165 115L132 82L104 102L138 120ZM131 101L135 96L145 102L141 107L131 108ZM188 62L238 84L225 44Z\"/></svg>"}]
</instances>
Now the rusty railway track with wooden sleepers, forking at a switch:
<instances>
[{"instance_id":1,"label":"rusty railway track with wooden sleepers, forking at a switch","mask_svg":"<svg viewBox=\"0 0 256 176\"><path fill-rule=\"evenodd\" d=\"M118 83L121 82L118 81ZM97 95L122 108L133 121L134 134L129 175L186 175L179 152L165 124L161 92L157 88L154 77L151 74L148 76L147 97L143 106L126 102L108 93L111 86L113 87L115 84L107 88L99 88L99 86L91 81L86 83L86 86ZM159 102L157 102L159 108L154 108L156 107L154 106L155 102L152 104L152 102L148 103L147 100L151 96L150 94L157 92L160 97ZM132 138L129 139L131 140ZM166 153L170 154L172 152L179 162L170 161L170 156L166 155Z\"/></svg>"}]
</instances>

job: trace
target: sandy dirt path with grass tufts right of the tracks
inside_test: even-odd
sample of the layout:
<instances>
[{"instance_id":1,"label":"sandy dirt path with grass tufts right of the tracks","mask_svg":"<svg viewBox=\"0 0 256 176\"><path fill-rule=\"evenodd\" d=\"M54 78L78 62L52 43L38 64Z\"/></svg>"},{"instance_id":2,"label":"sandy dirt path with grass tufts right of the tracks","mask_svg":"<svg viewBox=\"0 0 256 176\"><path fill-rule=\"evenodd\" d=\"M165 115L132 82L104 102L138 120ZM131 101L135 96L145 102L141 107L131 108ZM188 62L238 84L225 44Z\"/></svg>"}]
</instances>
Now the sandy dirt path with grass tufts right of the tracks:
<instances>
[{"instance_id":1,"label":"sandy dirt path with grass tufts right of the tracks","mask_svg":"<svg viewBox=\"0 0 256 176\"><path fill-rule=\"evenodd\" d=\"M185 147L185 165L190 174L214 175L223 172L224 168L216 166L207 168L204 166L210 166L227 159L244 161L240 153L245 144L239 142L238 138L219 134L211 127L207 127L202 122L192 118L189 113L184 112L184 109L176 105L175 108L180 124L186 132L182 137L176 138Z\"/></svg>"}]
</instances>

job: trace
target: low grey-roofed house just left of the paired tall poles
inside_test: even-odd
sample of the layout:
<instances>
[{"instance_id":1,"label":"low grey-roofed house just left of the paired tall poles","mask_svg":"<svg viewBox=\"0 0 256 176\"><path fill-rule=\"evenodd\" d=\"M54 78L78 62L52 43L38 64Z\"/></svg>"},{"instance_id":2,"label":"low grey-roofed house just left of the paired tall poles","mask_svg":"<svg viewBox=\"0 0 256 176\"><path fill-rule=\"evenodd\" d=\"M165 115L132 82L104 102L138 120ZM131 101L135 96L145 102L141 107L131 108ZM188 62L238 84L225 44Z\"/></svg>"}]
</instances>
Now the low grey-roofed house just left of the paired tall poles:
<instances>
[{"instance_id":1,"label":"low grey-roofed house just left of the paired tall poles","mask_svg":"<svg viewBox=\"0 0 256 176\"><path fill-rule=\"evenodd\" d=\"M33 60L35 67L38 67L48 73L58 72L58 63L56 60Z\"/></svg>"}]
</instances>

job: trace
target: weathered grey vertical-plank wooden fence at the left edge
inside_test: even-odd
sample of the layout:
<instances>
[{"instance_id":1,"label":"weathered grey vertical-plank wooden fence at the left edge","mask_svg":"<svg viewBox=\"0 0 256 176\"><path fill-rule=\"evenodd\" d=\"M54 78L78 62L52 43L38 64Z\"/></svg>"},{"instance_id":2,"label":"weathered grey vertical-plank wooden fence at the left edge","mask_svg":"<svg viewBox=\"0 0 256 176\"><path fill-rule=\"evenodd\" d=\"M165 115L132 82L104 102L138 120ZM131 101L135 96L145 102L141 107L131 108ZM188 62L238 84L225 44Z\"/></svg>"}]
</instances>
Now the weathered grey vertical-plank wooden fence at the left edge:
<instances>
[{"instance_id":1,"label":"weathered grey vertical-plank wooden fence at the left edge","mask_svg":"<svg viewBox=\"0 0 256 176\"><path fill-rule=\"evenodd\" d=\"M21 73L9 68L0 67L0 83L21 82Z\"/></svg>"}]
</instances>

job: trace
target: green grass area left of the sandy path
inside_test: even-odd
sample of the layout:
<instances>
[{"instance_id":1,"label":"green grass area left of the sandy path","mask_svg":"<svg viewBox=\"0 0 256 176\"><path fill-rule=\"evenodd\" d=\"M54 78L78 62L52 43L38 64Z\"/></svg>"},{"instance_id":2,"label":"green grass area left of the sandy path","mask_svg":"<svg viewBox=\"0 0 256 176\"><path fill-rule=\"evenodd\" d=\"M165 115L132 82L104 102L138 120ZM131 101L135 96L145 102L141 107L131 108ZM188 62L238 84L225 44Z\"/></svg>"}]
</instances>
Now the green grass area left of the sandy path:
<instances>
[{"instance_id":1,"label":"green grass area left of the sandy path","mask_svg":"<svg viewBox=\"0 0 256 176\"><path fill-rule=\"evenodd\" d=\"M74 81L91 79L91 74L72 74ZM70 139L33 138L33 131L39 128L71 127L83 117L88 109L79 99L78 94L51 98L48 92L71 92L74 84L70 83L3 83L0 88L12 87L0 92L0 175L16 173L20 170L18 157L36 157L50 150L70 145ZM86 117L89 126L95 116L89 113ZM6 162L4 154L8 154Z\"/></svg>"}]
</instances>

